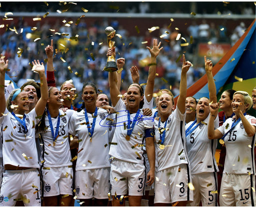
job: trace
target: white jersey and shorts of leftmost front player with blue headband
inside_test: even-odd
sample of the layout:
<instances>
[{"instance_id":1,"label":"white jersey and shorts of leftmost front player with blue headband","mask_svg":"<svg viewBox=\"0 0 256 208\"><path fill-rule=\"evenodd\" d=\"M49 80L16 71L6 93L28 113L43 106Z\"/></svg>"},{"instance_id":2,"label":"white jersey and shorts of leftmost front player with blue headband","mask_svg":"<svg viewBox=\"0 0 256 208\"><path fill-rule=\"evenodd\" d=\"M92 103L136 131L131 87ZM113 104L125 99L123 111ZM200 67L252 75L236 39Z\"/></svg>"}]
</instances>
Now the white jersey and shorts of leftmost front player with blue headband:
<instances>
[{"instance_id":1,"label":"white jersey and shorts of leftmost front player with blue headband","mask_svg":"<svg viewBox=\"0 0 256 208\"><path fill-rule=\"evenodd\" d=\"M25 128L7 110L0 117L3 165L24 167L21 170L5 170L3 173L0 206L14 206L18 198L24 205L40 206L39 164L35 145L35 109L24 114Z\"/></svg>"}]
</instances>

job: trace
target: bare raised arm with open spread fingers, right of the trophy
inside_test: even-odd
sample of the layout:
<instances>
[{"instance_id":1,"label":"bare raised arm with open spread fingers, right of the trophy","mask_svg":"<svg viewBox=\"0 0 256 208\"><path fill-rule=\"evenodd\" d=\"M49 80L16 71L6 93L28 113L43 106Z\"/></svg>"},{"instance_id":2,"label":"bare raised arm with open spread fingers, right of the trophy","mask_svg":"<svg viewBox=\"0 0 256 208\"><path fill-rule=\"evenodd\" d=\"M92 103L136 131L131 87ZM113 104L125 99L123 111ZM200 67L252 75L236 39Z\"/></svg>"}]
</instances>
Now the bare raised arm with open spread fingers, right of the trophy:
<instances>
[{"instance_id":1,"label":"bare raised arm with open spread fingers, right of the trophy","mask_svg":"<svg viewBox=\"0 0 256 208\"><path fill-rule=\"evenodd\" d=\"M154 78L156 73L156 56L159 54L160 50L163 47L160 47L161 42L157 44L157 39L153 39L153 47L146 47L151 55L150 66L148 70L148 76L145 87L145 97L148 102L153 98L153 90L154 90Z\"/></svg>"}]
</instances>

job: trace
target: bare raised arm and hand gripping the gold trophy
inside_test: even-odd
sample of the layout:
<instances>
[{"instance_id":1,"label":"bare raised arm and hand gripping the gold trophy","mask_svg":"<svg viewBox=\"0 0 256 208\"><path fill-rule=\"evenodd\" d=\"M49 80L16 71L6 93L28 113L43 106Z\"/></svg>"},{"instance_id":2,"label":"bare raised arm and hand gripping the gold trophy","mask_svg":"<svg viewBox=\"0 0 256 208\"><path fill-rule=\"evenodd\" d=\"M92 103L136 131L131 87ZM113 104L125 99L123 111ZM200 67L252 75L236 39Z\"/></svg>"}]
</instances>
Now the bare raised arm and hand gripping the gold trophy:
<instances>
[{"instance_id":1,"label":"bare raised arm and hand gripping the gold trophy","mask_svg":"<svg viewBox=\"0 0 256 208\"><path fill-rule=\"evenodd\" d=\"M107 55L111 55L113 53L111 48L108 48ZM109 82L109 92L111 97L112 106L114 107L117 101L120 99L118 96L120 94L120 88L118 88L117 84L117 72L109 71L108 72L108 82Z\"/></svg>"}]
</instances>

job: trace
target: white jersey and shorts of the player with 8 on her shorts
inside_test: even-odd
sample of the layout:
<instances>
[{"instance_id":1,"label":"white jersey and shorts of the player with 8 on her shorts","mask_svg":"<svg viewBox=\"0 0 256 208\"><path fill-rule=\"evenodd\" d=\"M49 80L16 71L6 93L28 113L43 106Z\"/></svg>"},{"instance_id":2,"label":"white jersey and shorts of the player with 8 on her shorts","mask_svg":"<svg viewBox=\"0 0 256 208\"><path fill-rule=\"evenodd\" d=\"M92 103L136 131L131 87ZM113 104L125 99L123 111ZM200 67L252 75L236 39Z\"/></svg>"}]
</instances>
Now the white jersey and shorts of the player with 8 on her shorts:
<instances>
[{"instance_id":1,"label":"white jersey and shorts of the player with 8 on her shorts","mask_svg":"<svg viewBox=\"0 0 256 208\"><path fill-rule=\"evenodd\" d=\"M164 129L165 137L161 144ZM158 165L154 203L192 201L192 190L188 188L191 176L185 145L185 113L182 114L177 107L165 122L160 118L159 121L154 120L154 131Z\"/></svg>"}]
</instances>

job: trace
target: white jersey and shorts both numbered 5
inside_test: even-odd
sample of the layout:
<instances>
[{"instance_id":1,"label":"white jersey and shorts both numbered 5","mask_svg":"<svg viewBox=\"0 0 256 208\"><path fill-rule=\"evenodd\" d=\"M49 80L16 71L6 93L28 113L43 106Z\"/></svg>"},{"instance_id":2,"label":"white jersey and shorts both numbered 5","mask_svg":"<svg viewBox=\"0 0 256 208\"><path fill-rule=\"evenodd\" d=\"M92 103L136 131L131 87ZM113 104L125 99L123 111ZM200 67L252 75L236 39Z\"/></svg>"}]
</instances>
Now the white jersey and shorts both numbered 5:
<instances>
[{"instance_id":1,"label":"white jersey and shorts both numbered 5","mask_svg":"<svg viewBox=\"0 0 256 208\"><path fill-rule=\"evenodd\" d=\"M217 206L217 177L218 171L215 151L217 139L208 139L207 123L209 116L198 125L195 121L190 121L185 125L186 145L188 159L191 165L192 183L194 186L193 202L190 206L198 206L200 201L202 206ZM192 130L194 128L194 130ZM218 127L218 116L214 119L214 127ZM189 128L192 131L189 131ZM214 192L213 192L214 191Z\"/></svg>"}]
</instances>

